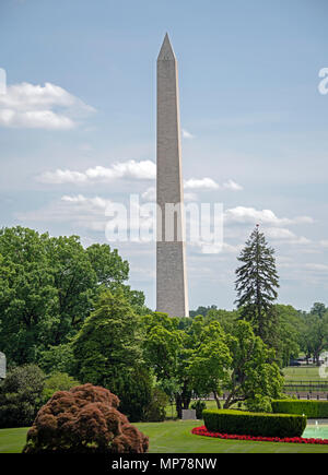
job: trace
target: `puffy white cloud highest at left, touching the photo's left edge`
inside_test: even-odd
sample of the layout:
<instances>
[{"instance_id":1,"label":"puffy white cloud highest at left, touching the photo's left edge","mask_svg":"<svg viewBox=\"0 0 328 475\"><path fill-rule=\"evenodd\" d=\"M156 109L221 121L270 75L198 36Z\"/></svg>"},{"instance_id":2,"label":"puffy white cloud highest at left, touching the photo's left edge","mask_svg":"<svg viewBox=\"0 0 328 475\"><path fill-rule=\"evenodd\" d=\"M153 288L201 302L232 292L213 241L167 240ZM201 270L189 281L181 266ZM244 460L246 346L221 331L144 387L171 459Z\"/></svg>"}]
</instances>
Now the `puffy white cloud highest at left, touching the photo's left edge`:
<instances>
[{"instance_id":1,"label":"puffy white cloud highest at left, touching the photo's left edge","mask_svg":"<svg viewBox=\"0 0 328 475\"><path fill-rule=\"evenodd\" d=\"M0 95L2 127L69 130L78 126L75 118L91 111L93 107L51 83L10 85Z\"/></svg>"}]
</instances>

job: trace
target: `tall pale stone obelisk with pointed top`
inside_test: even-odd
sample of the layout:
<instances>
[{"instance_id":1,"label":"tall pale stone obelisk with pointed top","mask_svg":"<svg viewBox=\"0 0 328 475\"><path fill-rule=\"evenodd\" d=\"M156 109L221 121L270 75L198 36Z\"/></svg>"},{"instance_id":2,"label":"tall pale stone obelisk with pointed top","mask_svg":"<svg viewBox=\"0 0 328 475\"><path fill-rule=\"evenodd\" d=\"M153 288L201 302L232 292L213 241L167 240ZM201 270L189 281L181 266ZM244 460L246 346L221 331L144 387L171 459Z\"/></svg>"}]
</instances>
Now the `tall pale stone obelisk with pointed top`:
<instances>
[{"instance_id":1,"label":"tall pale stone obelisk with pointed top","mask_svg":"<svg viewBox=\"0 0 328 475\"><path fill-rule=\"evenodd\" d=\"M157 58L156 310L171 317L189 317L183 206L177 61L166 34Z\"/></svg>"}]
</instances>

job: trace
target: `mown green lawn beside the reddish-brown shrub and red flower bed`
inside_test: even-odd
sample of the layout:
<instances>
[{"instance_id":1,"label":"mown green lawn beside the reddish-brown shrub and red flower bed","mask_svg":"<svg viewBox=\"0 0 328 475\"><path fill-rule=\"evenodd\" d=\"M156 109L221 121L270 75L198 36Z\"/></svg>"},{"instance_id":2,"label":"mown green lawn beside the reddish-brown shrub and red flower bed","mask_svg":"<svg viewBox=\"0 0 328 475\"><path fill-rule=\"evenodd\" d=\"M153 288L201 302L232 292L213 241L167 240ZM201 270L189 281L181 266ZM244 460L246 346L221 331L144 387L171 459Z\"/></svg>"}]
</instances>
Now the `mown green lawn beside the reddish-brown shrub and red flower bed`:
<instances>
[{"instance_id":1,"label":"mown green lawn beside the reddish-brown shrub and red flower bed","mask_svg":"<svg viewBox=\"0 0 328 475\"><path fill-rule=\"evenodd\" d=\"M155 453L328 453L328 447L297 443L247 442L192 436L199 421L142 423L136 426L150 438ZM0 430L0 453L21 452L26 428Z\"/></svg>"}]
</instances>

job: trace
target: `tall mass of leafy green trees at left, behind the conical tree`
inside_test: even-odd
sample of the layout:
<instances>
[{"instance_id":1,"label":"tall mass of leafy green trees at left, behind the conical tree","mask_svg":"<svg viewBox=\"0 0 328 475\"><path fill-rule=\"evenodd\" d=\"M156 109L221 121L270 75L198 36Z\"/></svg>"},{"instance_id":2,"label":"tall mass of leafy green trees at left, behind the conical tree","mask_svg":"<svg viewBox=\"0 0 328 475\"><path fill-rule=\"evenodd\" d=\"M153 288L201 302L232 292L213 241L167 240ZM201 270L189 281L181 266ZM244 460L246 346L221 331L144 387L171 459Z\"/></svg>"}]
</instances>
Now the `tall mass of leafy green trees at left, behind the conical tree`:
<instances>
[{"instance_id":1,"label":"tall mass of leafy green trees at left, behind the conical tree","mask_svg":"<svg viewBox=\"0 0 328 475\"><path fill-rule=\"evenodd\" d=\"M107 245L84 249L78 236L2 228L0 254L0 347L16 365L66 344L90 314L99 288L128 278L128 263L116 250Z\"/></svg>"}]
</instances>

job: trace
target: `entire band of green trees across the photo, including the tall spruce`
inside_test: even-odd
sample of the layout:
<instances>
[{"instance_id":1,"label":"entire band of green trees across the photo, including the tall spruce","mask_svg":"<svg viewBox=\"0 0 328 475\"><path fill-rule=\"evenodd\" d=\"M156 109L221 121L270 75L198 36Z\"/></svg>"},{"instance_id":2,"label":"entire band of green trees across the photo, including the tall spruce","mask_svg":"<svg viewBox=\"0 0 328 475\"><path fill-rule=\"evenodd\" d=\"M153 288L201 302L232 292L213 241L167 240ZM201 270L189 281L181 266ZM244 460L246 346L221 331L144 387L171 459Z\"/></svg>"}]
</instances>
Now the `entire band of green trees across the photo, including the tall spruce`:
<instances>
[{"instance_id":1,"label":"entire band of green trees across the photo, including the tall spruce","mask_svg":"<svg viewBox=\"0 0 328 475\"><path fill-rule=\"evenodd\" d=\"M129 265L109 246L84 249L77 236L4 228L0 348L12 367L37 364L48 379L56 372L57 381L109 389L131 420L163 419L167 397L179 416L192 395L212 393L220 407L222 392L224 407L269 409L281 395L280 368L300 351L318 358L327 347L327 309L315 305L307 316L276 304L274 251L258 227L239 261L236 310L168 318L126 284ZM5 384L0 399L9 407Z\"/></svg>"}]
</instances>

